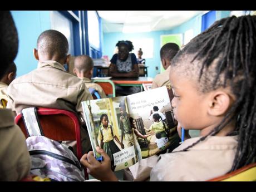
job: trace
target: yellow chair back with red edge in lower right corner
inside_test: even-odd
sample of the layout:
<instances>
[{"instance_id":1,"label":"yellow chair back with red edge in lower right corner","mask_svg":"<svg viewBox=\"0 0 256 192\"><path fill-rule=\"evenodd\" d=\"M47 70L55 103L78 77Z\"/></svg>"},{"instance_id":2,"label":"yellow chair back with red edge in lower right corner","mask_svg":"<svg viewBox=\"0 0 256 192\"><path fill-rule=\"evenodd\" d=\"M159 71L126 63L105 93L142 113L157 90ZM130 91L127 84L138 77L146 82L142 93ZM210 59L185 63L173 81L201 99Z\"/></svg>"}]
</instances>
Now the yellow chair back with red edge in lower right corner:
<instances>
[{"instance_id":1,"label":"yellow chair back with red edge in lower right corner","mask_svg":"<svg viewBox=\"0 0 256 192\"><path fill-rule=\"evenodd\" d=\"M256 163L208 181L256 181Z\"/></svg>"}]
</instances>

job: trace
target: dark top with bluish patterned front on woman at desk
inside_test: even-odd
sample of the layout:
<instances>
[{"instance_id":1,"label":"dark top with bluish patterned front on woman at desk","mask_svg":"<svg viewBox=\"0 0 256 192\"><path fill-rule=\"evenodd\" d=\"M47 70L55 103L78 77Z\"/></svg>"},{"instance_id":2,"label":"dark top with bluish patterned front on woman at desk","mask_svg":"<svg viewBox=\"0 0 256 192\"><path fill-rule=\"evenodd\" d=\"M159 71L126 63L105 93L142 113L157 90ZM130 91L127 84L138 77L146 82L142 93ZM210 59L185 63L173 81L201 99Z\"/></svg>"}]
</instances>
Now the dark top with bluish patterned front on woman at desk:
<instances>
[{"instance_id":1,"label":"dark top with bluish patterned front on woman at desk","mask_svg":"<svg viewBox=\"0 0 256 192\"><path fill-rule=\"evenodd\" d=\"M118 58L118 55L115 54L111 58L110 62L116 65L118 72L128 73L128 72L131 72L134 68L134 65L137 64L137 58L134 53L129 53L129 56L127 57L127 59L125 61L121 61Z\"/></svg>"}]
</instances>

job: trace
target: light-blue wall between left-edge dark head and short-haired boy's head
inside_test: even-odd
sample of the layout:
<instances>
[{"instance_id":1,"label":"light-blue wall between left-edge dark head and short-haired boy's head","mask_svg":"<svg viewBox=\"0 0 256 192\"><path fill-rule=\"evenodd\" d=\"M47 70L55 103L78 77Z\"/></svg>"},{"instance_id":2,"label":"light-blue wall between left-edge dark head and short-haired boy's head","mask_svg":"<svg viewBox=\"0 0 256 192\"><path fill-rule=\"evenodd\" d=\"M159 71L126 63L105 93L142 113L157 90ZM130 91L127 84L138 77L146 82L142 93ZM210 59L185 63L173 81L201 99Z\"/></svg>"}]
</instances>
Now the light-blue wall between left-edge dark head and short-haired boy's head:
<instances>
[{"instance_id":1,"label":"light-blue wall between left-edge dark head and short-haired boy's head","mask_svg":"<svg viewBox=\"0 0 256 192\"><path fill-rule=\"evenodd\" d=\"M33 56L37 38L43 31L50 29L49 11L11 11L18 31L18 55L14 62L17 65L17 77L37 67Z\"/></svg>"}]
</instances>

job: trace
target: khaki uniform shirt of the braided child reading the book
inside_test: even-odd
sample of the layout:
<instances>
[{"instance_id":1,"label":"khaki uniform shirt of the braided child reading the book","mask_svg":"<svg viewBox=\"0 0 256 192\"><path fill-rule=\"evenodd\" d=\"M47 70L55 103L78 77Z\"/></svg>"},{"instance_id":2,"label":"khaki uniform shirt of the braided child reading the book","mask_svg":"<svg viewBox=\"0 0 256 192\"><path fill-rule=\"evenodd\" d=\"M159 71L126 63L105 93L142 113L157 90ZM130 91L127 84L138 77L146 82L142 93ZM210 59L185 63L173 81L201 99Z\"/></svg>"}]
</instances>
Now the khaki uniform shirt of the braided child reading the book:
<instances>
[{"instance_id":1,"label":"khaki uniform shirt of the braided child reading the book","mask_svg":"<svg viewBox=\"0 0 256 192\"><path fill-rule=\"evenodd\" d=\"M169 154L141 160L131 170L135 180L150 181L206 181L227 174L232 168L237 150L237 136L210 136L191 147L200 137L185 140ZM181 152L174 152L181 151Z\"/></svg>"}]
</instances>

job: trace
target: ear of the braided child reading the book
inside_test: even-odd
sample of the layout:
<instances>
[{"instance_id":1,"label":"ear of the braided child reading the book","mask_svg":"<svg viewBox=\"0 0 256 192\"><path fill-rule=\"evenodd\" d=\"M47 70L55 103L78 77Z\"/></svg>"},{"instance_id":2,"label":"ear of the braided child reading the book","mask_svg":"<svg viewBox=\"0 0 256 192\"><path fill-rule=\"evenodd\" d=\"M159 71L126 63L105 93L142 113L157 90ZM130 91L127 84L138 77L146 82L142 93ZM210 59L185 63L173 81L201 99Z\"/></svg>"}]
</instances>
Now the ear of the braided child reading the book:
<instances>
[{"instance_id":1,"label":"ear of the braided child reading the book","mask_svg":"<svg viewBox=\"0 0 256 192\"><path fill-rule=\"evenodd\" d=\"M232 102L231 97L224 91L216 91L211 95L208 114L213 116L224 115Z\"/></svg>"}]
</instances>

